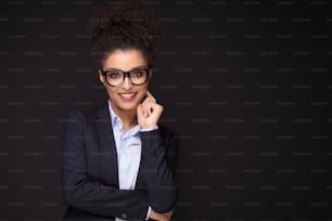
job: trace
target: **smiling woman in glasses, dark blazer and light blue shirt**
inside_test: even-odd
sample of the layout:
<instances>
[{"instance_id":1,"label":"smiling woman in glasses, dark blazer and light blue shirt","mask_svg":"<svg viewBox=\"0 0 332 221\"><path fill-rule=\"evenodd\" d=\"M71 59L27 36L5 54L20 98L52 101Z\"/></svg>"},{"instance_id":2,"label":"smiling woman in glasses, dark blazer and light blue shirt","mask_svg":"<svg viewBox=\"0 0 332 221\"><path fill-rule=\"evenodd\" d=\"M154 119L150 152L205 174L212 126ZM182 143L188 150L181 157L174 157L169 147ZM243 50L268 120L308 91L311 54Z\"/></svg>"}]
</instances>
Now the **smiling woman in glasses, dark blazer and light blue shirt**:
<instances>
[{"instance_id":1,"label":"smiling woman in glasses, dark blazer and light blue shirt","mask_svg":"<svg viewBox=\"0 0 332 221\"><path fill-rule=\"evenodd\" d=\"M106 5L89 27L108 100L66 120L64 220L169 220L178 144L148 91L159 24L142 5Z\"/></svg>"}]
</instances>

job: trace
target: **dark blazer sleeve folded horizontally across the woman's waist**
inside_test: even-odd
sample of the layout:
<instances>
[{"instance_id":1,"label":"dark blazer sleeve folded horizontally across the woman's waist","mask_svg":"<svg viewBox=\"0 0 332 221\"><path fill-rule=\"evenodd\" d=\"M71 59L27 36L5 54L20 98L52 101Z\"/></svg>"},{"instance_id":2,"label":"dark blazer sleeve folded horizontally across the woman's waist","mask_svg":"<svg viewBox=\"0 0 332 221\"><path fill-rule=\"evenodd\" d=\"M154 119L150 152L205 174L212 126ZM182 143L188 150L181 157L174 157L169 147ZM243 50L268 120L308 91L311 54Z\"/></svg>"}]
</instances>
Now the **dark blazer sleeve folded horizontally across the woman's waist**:
<instances>
[{"instance_id":1,"label":"dark blazer sleeve folded horizontally across the woman's waist","mask_svg":"<svg viewBox=\"0 0 332 221\"><path fill-rule=\"evenodd\" d=\"M146 193L118 190L89 181L84 120L81 113L71 113L65 122L62 158L62 187L65 203L100 216L144 220L149 208Z\"/></svg>"}]
</instances>

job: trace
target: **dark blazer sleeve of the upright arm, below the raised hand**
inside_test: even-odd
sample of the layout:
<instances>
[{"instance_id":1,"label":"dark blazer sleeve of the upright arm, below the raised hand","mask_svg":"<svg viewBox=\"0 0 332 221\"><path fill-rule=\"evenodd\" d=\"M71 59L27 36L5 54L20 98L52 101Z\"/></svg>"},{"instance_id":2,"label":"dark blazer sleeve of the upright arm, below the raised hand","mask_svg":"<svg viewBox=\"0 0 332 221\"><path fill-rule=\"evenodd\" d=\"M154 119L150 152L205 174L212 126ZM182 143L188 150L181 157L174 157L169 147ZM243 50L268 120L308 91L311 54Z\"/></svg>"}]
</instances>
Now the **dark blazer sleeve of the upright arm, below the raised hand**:
<instances>
[{"instance_id":1,"label":"dark blazer sleeve of the upright arm, below the raised hand","mask_svg":"<svg viewBox=\"0 0 332 221\"><path fill-rule=\"evenodd\" d=\"M149 205L157 212L166 212L177 200L176 168L178 139L174 132L157 129L141 132L143 174Z\"/></svg>"}]
</instances>

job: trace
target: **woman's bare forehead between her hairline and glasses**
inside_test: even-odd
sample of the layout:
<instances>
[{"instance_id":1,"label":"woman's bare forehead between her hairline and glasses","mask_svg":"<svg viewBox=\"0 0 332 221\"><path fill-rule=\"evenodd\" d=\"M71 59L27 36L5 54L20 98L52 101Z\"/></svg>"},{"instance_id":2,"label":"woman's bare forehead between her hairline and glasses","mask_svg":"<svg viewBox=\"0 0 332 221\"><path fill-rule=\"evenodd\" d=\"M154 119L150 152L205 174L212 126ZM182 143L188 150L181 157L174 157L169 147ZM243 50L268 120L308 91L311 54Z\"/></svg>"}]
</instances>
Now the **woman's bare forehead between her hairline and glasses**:
<instances>
[{"instance_id":1,"label":"woman's bare forehead between her hairline and glasses","mask_svg":"<svg viewBox=\"0 0 332 221\"><path fill-rule=\"evenodd\" d=\"M128 72L135 67L146 65L145 57L137 49L115 50L105 58L103 69L116 68Z\"/></svg>"}]
</instances>

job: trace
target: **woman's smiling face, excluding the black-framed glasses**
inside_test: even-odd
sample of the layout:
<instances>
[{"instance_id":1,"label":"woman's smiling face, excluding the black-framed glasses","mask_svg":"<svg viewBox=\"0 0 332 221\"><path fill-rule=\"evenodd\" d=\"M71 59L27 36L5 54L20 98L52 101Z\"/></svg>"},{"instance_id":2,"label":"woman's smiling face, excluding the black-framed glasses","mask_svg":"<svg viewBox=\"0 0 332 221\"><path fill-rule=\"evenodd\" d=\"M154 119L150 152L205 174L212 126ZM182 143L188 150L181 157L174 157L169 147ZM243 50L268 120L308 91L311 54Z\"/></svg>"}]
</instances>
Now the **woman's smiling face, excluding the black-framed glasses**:
<instances>
[{"instance_id":1,"label":"woman's smiling face, excluding the black-framed glasses","mask_svg":"<svg viewBox=\"0 0 332 221\"><path fill-rule=\"evenodd\" d=\"M129 72L137 67L148 68L148 63L142 53L137 49L115 50L105 60L102 69L119 69ZM151 77L151 72L148 78ZM136 112L137 106L141 103L146 94L149 79L141 86L131 84L128 77L125 78L123 84L118 87L108 86L102 73L99 73L99 79L106 88L112 107L116 114L119 112Z\"/></svg>"}]
</instances>

